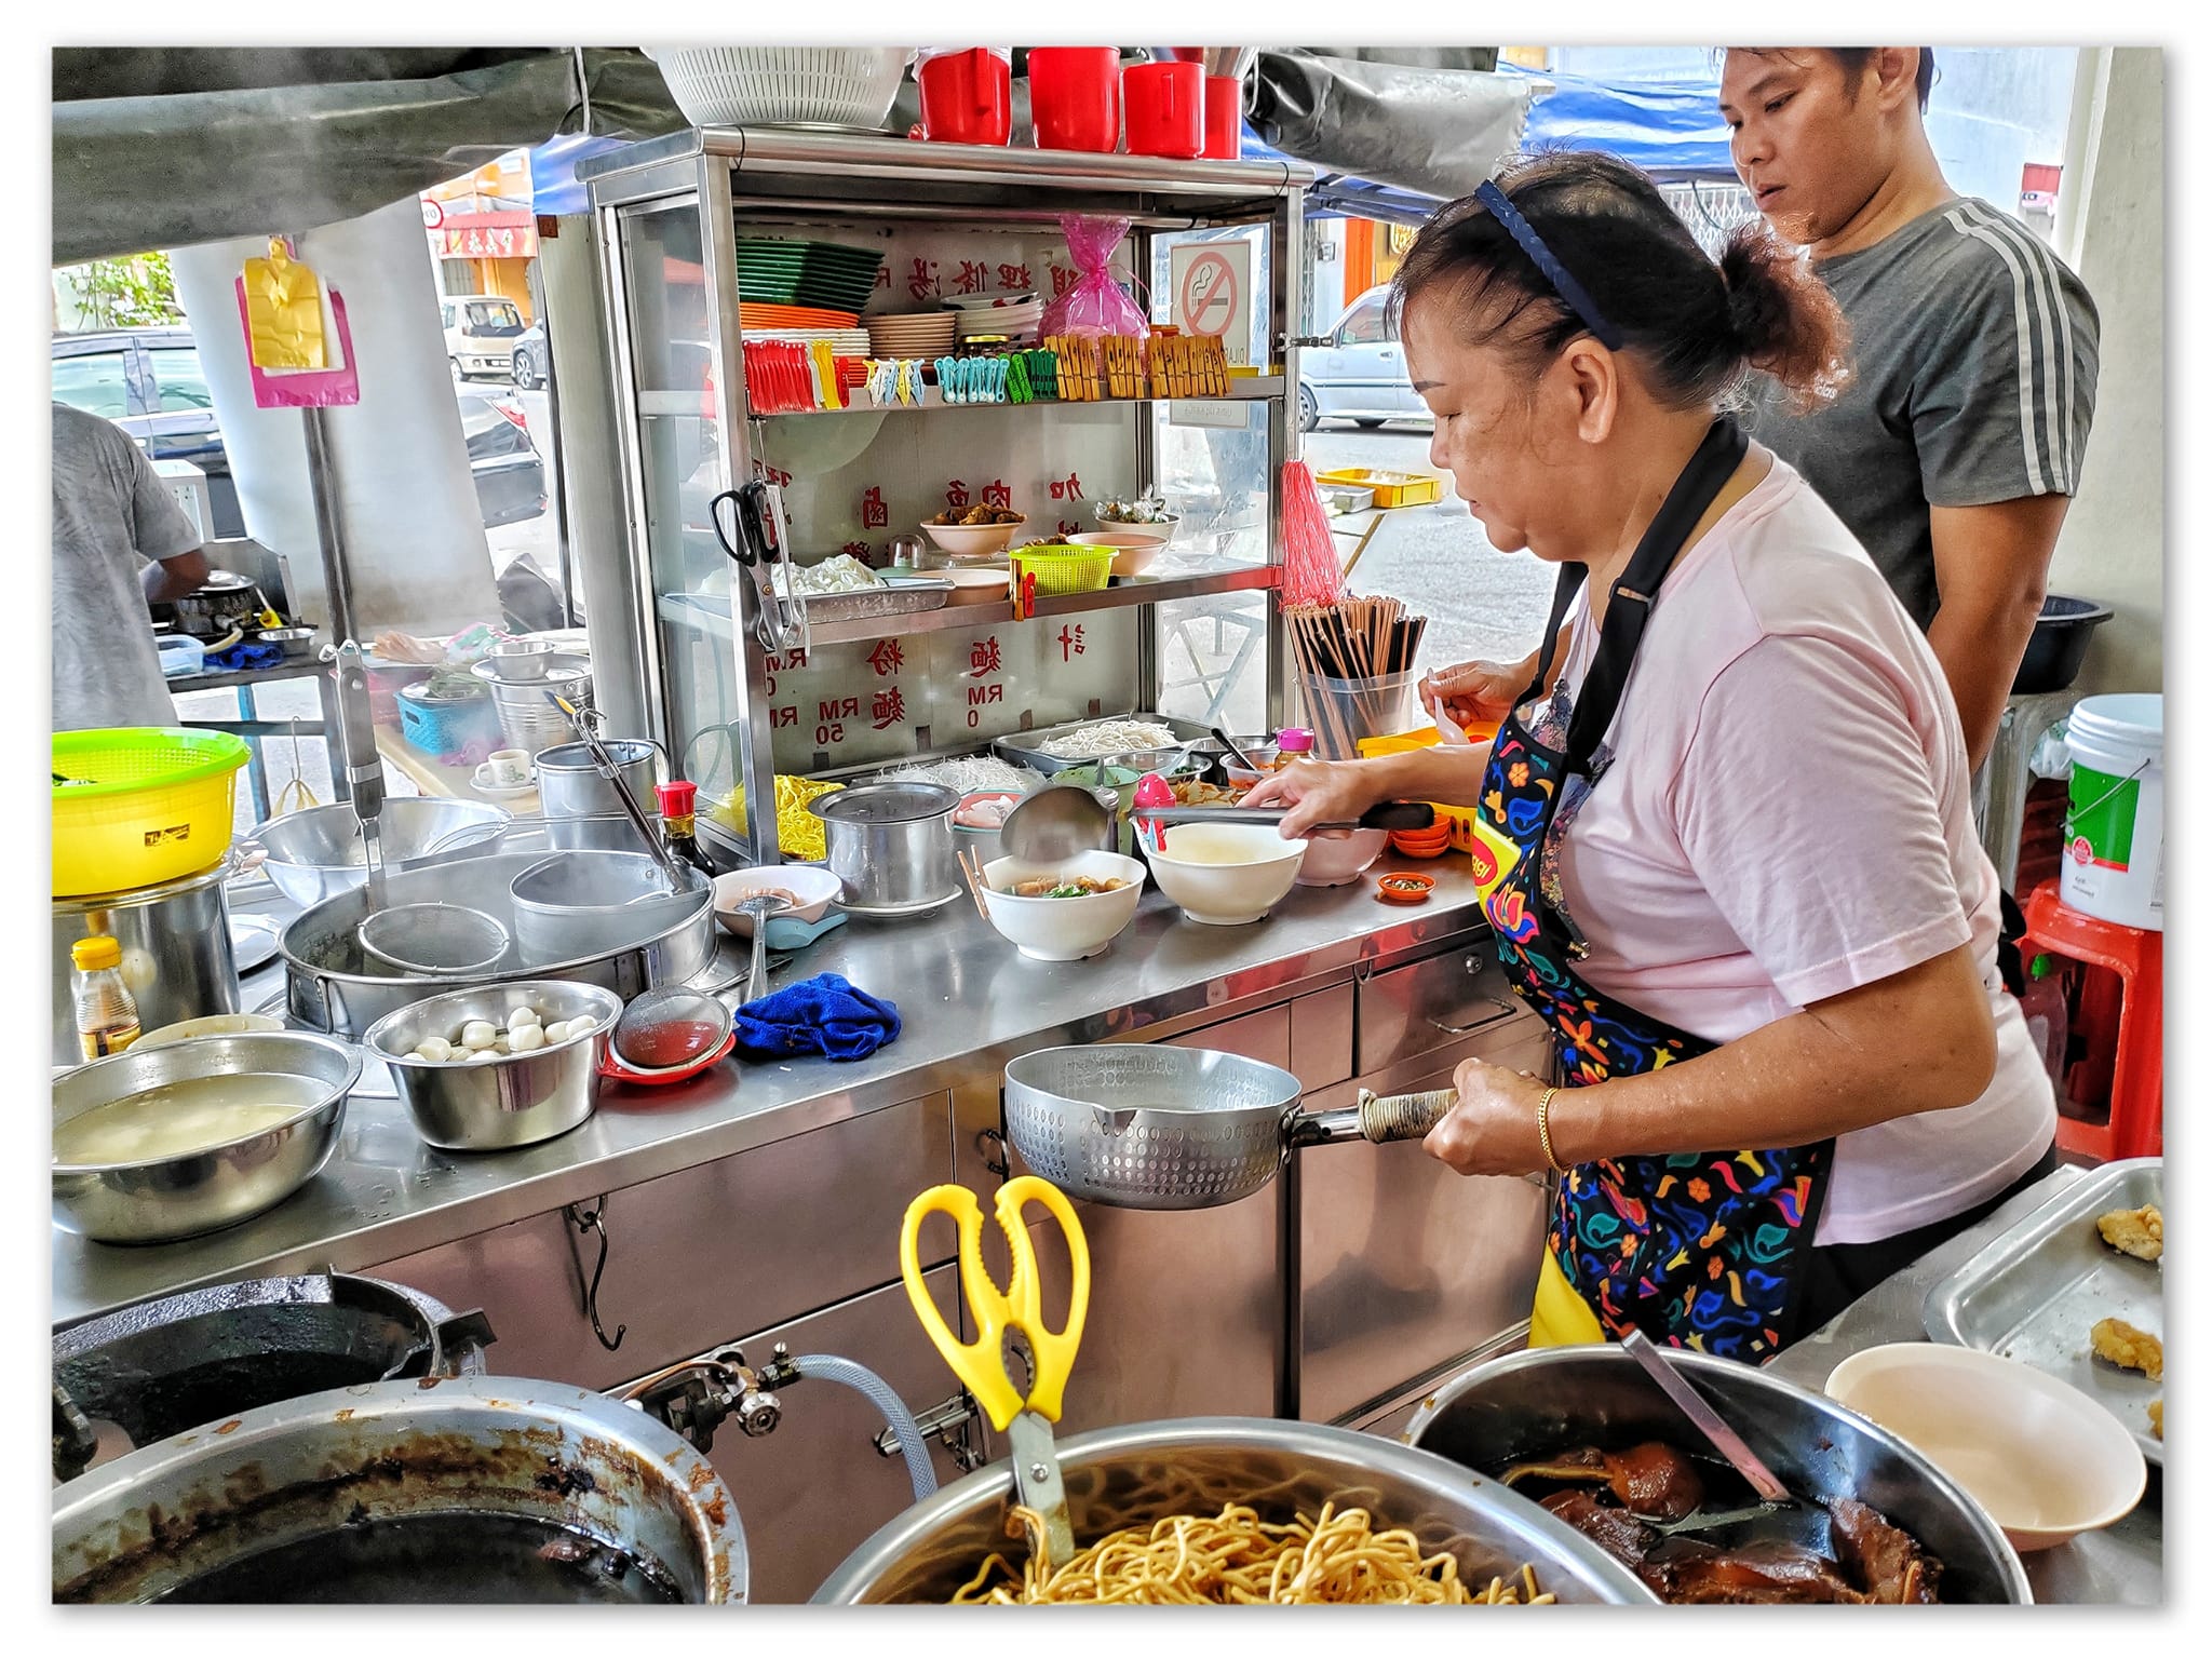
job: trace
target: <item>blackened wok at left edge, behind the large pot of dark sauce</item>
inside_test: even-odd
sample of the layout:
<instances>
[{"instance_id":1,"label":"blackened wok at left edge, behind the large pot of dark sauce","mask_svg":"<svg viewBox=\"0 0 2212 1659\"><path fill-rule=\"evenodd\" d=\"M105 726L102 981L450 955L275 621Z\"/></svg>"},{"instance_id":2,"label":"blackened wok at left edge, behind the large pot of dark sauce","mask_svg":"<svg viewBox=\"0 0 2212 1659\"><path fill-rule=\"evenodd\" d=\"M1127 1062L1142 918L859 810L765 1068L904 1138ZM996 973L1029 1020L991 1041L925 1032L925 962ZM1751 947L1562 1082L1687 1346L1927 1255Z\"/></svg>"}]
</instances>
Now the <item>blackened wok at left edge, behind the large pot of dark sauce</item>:
<instances>
[{"instance_id":1,"label":"blackened wok at left edge, behind the large pot of dark sauce","mask_svg":"<svg viewBox=\"0 0 2212 1659\"><path fill-rule=\"evenodd\" d=\"M482 1314L456 1316L380 1279L239 1279L55 1332L53 1387L75 1422L113 1425L128 1451L301 1394L476 1376L489 1340ZM66 1440L55 1433L55 1480L95 1455L88 1440Z\"/></svg>"}]
</instances>

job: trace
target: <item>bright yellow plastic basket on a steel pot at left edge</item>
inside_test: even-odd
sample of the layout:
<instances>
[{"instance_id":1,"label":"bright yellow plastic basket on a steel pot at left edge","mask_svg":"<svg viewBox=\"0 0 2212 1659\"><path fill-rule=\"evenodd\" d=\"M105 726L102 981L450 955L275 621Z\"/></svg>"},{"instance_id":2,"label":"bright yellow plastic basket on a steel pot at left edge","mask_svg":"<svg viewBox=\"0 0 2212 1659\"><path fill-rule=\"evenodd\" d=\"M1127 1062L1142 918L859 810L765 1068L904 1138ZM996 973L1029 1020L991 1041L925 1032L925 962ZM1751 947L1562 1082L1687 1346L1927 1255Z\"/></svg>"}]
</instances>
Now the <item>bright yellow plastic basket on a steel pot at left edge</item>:
<instances>
[{"instance_id":1,"label":"bright yellow plastic basket on a steel pot at left edge","mask_svg":"<svg viewBox=\"0 0 2212 1659\"><path fill-rule=\"evenodd\" d=\"M230 852L246 739L168 726L55 732L53 896L119 894L212 869Z\"/></svg>"}]
</instances>

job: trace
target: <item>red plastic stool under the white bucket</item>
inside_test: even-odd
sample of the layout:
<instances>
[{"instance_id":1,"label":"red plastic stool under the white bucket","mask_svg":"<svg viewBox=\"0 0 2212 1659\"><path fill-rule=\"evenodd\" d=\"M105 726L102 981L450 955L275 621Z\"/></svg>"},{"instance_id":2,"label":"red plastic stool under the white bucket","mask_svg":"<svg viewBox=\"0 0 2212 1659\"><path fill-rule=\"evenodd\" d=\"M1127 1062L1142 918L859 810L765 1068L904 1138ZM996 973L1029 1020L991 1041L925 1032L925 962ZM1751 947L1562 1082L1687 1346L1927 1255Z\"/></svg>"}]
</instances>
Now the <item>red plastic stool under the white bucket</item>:
<instances>
[{"instance_id":1,"label":"red plastic stool under the white bucket","mask_svg":"<svg viewBox=\"0 0 2212 1659\"><path fill-rule=\"evenodd\" d=\"M2119 978L2119 1033L2112 1044L2112 1108L2104 1124L2059 1113L2059 1150L2108 1164L2166 1150L2166 936L2101 922L2059 902L2055 880L2028 894L2035 951L2101 967ZM2093 993L2084 989L2084 1013Z\"/></svg>"}]
</instances>

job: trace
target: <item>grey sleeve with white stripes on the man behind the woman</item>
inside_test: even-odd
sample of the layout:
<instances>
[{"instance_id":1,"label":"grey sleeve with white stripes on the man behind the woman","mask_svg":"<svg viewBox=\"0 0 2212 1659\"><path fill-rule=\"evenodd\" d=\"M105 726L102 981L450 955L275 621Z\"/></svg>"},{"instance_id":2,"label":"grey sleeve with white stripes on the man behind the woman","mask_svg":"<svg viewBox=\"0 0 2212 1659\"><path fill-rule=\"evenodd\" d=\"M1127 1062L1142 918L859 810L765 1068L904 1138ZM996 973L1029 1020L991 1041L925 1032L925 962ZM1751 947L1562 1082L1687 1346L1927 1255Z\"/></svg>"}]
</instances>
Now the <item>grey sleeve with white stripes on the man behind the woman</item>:
<instances>
[{"instance_id":1,"label":"grey sleeve with white stripes on the man behind the woman","mask_svg":"<svg viewBox=\"0 0 2212 1659\"><path fill-rule=\"evenodd\" d=\"M1911 405L1931 507L2073 495L2097 407L2097 305L2026 226L1986 201L1944 212L1940 292Z\"/></svg>"}]
</instances>

